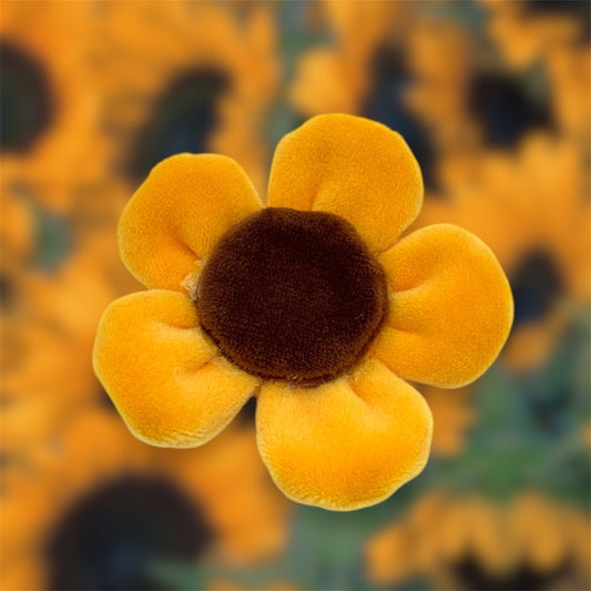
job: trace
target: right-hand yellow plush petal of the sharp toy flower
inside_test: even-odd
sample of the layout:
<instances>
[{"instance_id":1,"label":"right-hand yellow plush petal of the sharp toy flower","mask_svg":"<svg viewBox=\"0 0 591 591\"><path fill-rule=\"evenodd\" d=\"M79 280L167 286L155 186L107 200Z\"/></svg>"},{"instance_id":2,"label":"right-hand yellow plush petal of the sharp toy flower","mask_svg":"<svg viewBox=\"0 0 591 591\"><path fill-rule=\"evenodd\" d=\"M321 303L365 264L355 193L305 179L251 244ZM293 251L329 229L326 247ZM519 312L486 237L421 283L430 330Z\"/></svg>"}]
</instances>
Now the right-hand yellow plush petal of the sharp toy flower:
<instances>
[{"instance_id":1,"label":"right-hand yellow plush petal of the sharp toy flower","mask_svg":"<svg viewBox=\"0 0 591 591\"><path fill-rule=\"evenodd\" d=\"M496 359L513 318L509 282L475 235L440 224L380 256L390 309L371 349L397 375L455 388Z\"/></svg>"}]
</instances>

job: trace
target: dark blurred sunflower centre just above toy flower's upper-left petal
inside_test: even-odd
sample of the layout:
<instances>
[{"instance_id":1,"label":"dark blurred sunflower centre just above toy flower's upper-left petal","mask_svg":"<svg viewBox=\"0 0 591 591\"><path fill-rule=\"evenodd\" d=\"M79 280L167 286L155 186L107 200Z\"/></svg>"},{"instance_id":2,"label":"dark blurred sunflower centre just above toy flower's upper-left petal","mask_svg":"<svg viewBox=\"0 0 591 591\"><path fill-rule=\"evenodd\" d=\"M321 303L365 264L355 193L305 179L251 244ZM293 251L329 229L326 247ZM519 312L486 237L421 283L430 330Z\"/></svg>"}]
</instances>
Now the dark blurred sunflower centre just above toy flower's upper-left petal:
<instances>
[{"instance_id":1,"label":"dark blurred sunflower centre just above toy flower's upper-left petal","mask_svg":"<svg viewBox=\"0 0 591 591\"><path fill-rule=\"evenodd\" d=\"M173 154L207 152L216 103L228 86L228 77L211 68L177 75L155 101L152 118L135 139L129 165L132 179L143 181Z\"/></svg>"}]
</instances>

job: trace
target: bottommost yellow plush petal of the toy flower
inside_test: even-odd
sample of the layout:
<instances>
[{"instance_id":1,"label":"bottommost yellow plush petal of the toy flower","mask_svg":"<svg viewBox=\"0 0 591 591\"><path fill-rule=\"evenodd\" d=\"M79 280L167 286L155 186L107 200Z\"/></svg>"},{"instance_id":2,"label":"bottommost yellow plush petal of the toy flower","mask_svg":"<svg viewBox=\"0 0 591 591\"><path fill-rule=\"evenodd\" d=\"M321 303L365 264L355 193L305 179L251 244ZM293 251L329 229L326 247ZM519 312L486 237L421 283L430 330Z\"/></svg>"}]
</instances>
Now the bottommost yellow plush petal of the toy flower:
<instances>
[{"instance_id":1,"label":"bottommost yellow plush petal of the toy flower","mask_svg":"<svg viewBox=\"0 0 591 591\"><path fill-rule=\"evenodd\" d=\"M317 388L267 383L258 449L291 499L346 511L389 497L424 468L432 420L424 398L377 360Z\"/></svg>"}]
</instances>

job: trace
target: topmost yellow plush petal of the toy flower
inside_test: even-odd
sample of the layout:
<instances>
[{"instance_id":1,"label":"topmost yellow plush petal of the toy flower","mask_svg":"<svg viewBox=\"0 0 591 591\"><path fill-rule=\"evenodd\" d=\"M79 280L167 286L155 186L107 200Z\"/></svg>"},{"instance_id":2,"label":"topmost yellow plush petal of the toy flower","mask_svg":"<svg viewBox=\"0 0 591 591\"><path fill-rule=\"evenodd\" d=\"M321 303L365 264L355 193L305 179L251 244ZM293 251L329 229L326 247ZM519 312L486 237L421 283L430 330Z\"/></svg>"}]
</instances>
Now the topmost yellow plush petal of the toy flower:
<instances>
[{"instance_id":1,"label":"topmost yellow plush petal of the toy flower","mask_svg":"<svg viewBox=\"0 0 591 591\"><path fill-rule=\"evenodd\" d=\"M275 151L268 204L340 215L374 252L396 241L421 203L415 156L398 133L375 121L318 115Z\"/></svg>"}]
</instances>

